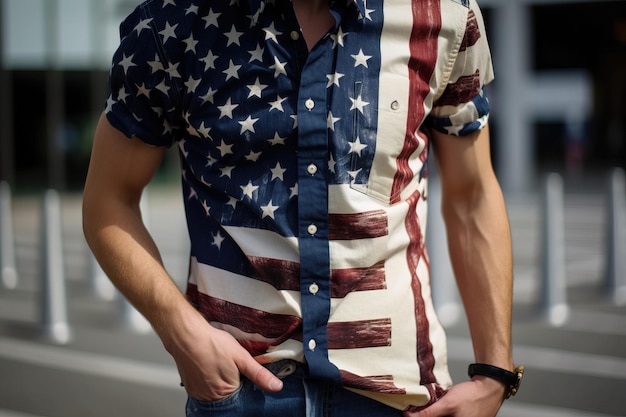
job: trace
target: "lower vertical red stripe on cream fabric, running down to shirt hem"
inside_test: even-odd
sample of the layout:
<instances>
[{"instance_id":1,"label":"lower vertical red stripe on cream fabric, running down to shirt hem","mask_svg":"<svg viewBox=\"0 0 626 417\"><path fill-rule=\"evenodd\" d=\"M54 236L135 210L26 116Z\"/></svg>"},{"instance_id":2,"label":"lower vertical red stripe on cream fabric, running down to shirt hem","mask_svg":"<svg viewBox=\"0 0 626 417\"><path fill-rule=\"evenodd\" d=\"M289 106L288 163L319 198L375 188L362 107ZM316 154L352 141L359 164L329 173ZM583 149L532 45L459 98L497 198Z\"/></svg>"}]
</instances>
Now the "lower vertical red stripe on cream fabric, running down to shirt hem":
<instances>
[{"instance_id":1,"label":"lower vertical red stripe on cream fabric, running down to shirt hem","mask_svg":"<svg viewBox=\"0 0 626 417\"><path fill-rule=\"evenodd\" d=\"M422 284L417 275L417 265L421 257L426 254L426 245L417 216L417 202L421 195L415 192L407 200L409 203L409 213L405 224L407 232L410 236L411 243L407 249L407 262L411 271L411 287L413 289L413 297L415 299L415 320L417 324L417 362L420 367L420 383L430 384L436 381L433 373L435 366L435 358L433 356L433 346L428 337L430 333L430 324L426 317L426 307L424 298L422 297Z\"/></svg>"}]
</instances>

